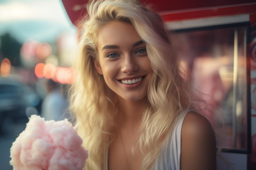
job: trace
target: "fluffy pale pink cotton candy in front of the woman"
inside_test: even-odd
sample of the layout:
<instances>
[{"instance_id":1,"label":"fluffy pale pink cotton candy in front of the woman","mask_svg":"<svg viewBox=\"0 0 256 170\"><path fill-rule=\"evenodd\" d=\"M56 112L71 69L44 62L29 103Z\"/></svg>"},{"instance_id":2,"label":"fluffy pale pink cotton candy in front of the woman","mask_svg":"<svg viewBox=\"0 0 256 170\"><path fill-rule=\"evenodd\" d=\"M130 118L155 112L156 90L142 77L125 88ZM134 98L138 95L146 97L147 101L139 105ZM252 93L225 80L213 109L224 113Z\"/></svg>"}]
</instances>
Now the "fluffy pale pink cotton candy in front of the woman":
<instances>
[{"instance_id":1,"label":"fluffy pale pink cotton candy in front of the woman","mask_svg":"<svg viewBox=\"0 0 256 170\"><path fill-rule=\"evenodd\" d=\"M13 170L82 170L88 151L67 119L45 121L32 115L10 152Z\"/></svg>"}]
</instances>

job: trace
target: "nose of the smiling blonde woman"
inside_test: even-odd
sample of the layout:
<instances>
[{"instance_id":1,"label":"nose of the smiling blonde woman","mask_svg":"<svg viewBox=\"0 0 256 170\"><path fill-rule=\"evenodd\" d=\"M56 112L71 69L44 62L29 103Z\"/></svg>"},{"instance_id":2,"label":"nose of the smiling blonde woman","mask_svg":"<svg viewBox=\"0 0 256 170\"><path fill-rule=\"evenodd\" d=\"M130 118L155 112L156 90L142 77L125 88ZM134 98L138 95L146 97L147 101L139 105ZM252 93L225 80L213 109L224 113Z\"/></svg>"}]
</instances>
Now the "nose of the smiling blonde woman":
<instances>
[{"instance_id":1,"label":"nose of the smiling blonde woman","mask_svg":"<svg viewBox=\"0 0 256 170\"><path fill-rule=\"evenodd\" d=\"M122 72L126 73L132 73L133 71L138 70L138 63L136 62L136 59L132 55L124 55L122 58Z\"/></svg>"}]
</instances>

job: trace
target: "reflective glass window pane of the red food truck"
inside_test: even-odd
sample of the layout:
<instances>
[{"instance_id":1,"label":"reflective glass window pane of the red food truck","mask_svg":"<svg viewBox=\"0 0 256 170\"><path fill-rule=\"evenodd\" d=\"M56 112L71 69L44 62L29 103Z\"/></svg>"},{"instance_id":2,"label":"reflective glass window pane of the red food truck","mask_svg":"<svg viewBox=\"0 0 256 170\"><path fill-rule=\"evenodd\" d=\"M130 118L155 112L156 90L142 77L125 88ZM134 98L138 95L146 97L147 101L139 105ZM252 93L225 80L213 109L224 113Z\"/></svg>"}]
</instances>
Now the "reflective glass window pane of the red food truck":
<instances>
[{"instance_id":1,"label":"reflective glass window pane of the red food truck","mask_svg":"<svg viewBox=\"0 0 256 170\"><path fill-rule=\"evenodd\" d=\"M193 76L200 98L212 104L213 126L225 118L222 147L247 148L246 27L173 33L173 44L186 70Z\"/></svg>"}]
</instances>

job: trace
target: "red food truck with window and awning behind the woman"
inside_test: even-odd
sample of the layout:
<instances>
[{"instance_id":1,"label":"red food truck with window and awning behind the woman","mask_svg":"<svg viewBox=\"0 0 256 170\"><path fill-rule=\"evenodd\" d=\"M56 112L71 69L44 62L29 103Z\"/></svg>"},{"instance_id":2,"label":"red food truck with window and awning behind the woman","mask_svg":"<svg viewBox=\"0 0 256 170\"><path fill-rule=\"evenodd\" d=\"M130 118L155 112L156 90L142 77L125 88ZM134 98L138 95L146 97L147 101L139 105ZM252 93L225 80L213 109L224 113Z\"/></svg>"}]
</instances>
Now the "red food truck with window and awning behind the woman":
<instances>
[{"instance_id":1,"label":"red food truck with window and awning behind the woman","mask_svg":"<svg viewBox=\"0 0 256 170\"><path fill-rule=\"evenodd\" d=\"M62 0L73 24L88 0ZM203 99L221 111L221 155L234 170L256 170L255 0L141 0L159 12ZM209 115L220 124L217 115ZM217 140L218 141L218 140ZM226 164L218 159L218 170Z\"/></svg>"}]
</instances>

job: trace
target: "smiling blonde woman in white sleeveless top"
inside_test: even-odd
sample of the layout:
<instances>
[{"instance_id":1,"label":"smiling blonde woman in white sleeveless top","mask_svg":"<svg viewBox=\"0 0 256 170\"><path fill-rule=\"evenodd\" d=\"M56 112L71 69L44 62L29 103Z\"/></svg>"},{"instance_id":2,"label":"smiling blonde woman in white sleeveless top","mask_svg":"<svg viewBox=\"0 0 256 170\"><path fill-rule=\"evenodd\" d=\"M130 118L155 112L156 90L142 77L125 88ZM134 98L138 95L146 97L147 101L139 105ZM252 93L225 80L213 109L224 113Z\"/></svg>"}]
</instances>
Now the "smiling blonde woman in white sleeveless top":
<instances>
[{"instance_id":1,"label":"smiling blonde woman in white sleeveless top","mask_svg":"<svg viewBox=\"0 0 256 170\"><path fill-rule=\"evenodd\" d=\"M160 16L137 0L88 6L70 89L86 170L216 169L214 132L174 51Z\"/></svg>"}]
</instances>

